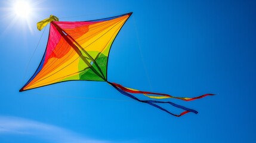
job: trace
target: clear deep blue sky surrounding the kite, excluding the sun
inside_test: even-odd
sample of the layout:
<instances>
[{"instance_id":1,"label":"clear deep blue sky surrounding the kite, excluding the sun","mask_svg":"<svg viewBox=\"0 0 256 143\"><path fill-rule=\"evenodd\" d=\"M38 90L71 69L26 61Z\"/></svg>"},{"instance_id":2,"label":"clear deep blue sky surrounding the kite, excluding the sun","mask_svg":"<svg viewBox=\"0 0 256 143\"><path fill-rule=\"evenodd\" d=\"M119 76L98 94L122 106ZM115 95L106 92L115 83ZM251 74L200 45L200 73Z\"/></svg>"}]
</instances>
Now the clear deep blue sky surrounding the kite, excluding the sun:
<instances>
[{"instance_id":1,"label":"clear deep blue sky surrounding the kite, excluding the sun","mask_svg":"<svg viewBox=\"0 0 256 143\"><path fill-rule=\"evenodd\" d=\"M8 15L12 2L0 2L0 142L255 142L256 2L33 1L30 29ZM104 82L18 92L45 51L49 27L36 48L38 21L129 12L110 51L110 82L178 97L217 94L169 100L199 114L171 116Z\"/></svg>"}]
</instances>

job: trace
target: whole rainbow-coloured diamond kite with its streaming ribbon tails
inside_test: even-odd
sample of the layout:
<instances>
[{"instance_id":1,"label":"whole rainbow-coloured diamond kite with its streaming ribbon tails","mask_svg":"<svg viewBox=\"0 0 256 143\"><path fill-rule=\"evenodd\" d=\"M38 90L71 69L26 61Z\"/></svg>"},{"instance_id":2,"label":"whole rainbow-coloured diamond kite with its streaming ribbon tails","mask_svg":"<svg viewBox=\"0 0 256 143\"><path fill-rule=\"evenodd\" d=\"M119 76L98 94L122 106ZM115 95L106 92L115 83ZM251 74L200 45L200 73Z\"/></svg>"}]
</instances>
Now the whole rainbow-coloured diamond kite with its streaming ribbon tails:
<instances>
[{"instance_id":1,"label":"whole rainbow-coloured diamond kite with its streaming ribbon tails","mask_svg":"<svg viewBox=\"0 0 256 143\"><path fill-rule=\"evenodd\" d=\"M173 102L158 100L176 98L192 101L214 94L205 94L195 98L172 97L168 94L126 88L107 80L110 48L131 14L91 21L58 21L57 17L50 15L49 18L40 21L37 24L38 30L50 24L47 47L38 69L20 89L20 92L70 80L100 81L109 83L121 94L133 100L152 105L174 116L180 117L189 112L197 114L196 110ZM135 97L135 94L143 94L156 100L140 100ZM159 104L170 104L184 111L174 114Z\"/></svg>"}]
</instances>

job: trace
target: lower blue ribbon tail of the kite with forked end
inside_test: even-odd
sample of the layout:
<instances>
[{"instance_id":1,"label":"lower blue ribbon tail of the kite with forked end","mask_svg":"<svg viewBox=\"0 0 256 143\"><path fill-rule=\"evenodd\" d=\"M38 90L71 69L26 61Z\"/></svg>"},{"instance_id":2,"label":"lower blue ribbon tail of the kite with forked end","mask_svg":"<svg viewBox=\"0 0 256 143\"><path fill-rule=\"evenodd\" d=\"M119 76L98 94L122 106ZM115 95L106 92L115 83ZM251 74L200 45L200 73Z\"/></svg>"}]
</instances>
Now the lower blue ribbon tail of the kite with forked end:
<instances>
[{"instance_id":1,"label":"lower blue ribbon tail of the kite with forked end","mask_svg":"<svg viewBox=\"0 0 256 143\"><path fill-rule=\"evenodd\" d=\"M189 112L193 112L193 113L195 113L195 114L198 114L198 111L196 111L196 110L193 110L193 109L190 109L190 108L187 108L187 107L184 107L184 106L181 106L181 105L175 104L175 103L173 103L173 102L169 102L169 101L139 100L139 99L138 99L137 97L135 97L134 95L131 95L131 94L129 94L127 91L125 91L125 90L123 90L122 88L120 88L120 86L117 86L116 83L111 83L111 82L107 82L107 83L109 83L110 85L112 85L112 86L113 86L116 90L118 90L121 94L123 94L123 95L125 95L125 96L127 96L127 97L129 97L129 98L132 98L132 99L134 99L134 100L137 100L137 101L139 101L139 102L144 102L144 103L147 103L147 104L149 104L149 105L152 105L152 106L154 106L154 107L156 107L156 108L159 108L160 110L163 110L163 111L165 111L165 112L167 112L167 113L169 113L169 114L171 114L171 115L173 115L173 116L180 117L180 116L183 116L184 114L187 114L187 113L189 113ZM170 105L172 105L172 106L174 106L174 107L181 108L181 109L183 109L183 110L185 110L185 111L183 111L183 112L180 113L180 114L174 114L174 113L169 112L169 111L166 110L165 108L163 108L163 107L157 105L156 103L159 103L159 104L160 104L160 103L167 103L167 104L170 104Z\"/></svg>"}]
</instances>

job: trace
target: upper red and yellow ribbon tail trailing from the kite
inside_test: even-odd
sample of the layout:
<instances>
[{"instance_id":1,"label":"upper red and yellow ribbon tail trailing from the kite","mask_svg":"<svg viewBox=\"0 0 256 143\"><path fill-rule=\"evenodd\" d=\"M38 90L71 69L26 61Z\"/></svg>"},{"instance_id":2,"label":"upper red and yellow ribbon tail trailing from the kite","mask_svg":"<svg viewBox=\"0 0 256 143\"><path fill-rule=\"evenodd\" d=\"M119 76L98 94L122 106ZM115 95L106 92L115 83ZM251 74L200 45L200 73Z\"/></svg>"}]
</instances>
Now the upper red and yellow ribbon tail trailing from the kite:
<instances>
[{"instance_id":1,"label":"upper red and yellow ribbon tail trailing from the kite","mask_svg":"<svg viewBox=\"0 0 256 143\"><path fill-rule=\"evenodd\" d=\"M155 92L138 91L137 89L126 88L126 87L124 87L122 85L119 85L117 83L112 83L112 84L117 86L119 89L122 89L123 91L129 92L129 93L132 93L132 94L143 94L146 97L154 98L154 99L175 98L175 99L178 99L178 100L192 101L192 100L198 100L200 98L203 98L203 97L206 97L206 96L209 96L209 95L214 95L214 94L204 94L204 95L201 95L199 97L193 97L193 98L189 98L189 97L172 97L171 95L168 95L168 94L159 94L159 93L155 93ZM149 94L158 95L158 96L152 96L152 95L149 95Z\"/></svg>"}]
</instances>

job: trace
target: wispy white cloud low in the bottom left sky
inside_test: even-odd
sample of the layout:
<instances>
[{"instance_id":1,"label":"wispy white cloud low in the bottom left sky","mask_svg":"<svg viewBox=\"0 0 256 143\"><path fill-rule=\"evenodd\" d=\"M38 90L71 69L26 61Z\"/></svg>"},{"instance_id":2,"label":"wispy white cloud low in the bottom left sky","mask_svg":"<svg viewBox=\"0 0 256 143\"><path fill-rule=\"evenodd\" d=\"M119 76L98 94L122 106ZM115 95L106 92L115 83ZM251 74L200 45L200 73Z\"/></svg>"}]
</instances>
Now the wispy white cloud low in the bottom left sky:
<instances>
[{"instance_id":1,"label":"wispy white cloud low in the bottom left sky","mask_svg":"<svg viewBox=\"0 0 256 143\"><path fill-rule=\"evenodd\" d=\"M90 139L78 133L63 129L46 123L33 120L21 119L18 117L0 116L0 136L4 134L32 135L48 142L76 142L76 143L108 143Z\"/></svg>"}]
</instances>

